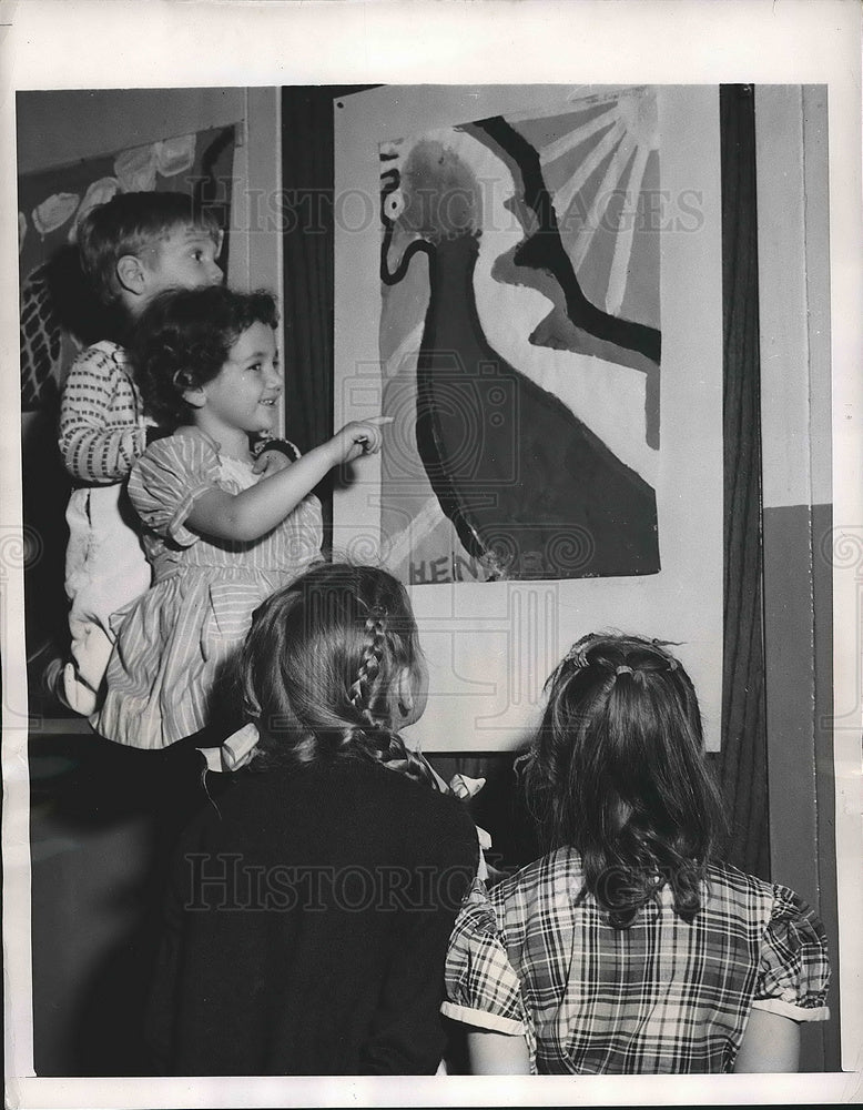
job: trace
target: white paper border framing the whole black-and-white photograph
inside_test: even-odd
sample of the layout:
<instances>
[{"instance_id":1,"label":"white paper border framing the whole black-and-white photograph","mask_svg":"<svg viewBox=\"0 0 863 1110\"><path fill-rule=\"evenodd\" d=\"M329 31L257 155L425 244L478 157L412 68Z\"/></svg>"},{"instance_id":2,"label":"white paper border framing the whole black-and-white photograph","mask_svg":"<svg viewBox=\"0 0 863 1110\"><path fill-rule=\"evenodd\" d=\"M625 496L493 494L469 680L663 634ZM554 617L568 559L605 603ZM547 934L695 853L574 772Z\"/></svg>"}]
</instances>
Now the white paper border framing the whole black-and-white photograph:
<instances>
[{"instance_id":1,"label":"white paper border framing the whole black-and-white photograph","mask_svg":"<svg viewBox=\"0 0 863 1110\"><path fill-rule=\"evenodd\" d=\"M834 571L836 847L844 1073L625 1079L99 1080L32 1077L14 92L374 83L826 84L831 143L833 507L863 526L861 12L855 0L0 0L0 613L7 1102L14 1107L835 1103L861 1082L861 618Z\"/></svg>"}]
</instances>

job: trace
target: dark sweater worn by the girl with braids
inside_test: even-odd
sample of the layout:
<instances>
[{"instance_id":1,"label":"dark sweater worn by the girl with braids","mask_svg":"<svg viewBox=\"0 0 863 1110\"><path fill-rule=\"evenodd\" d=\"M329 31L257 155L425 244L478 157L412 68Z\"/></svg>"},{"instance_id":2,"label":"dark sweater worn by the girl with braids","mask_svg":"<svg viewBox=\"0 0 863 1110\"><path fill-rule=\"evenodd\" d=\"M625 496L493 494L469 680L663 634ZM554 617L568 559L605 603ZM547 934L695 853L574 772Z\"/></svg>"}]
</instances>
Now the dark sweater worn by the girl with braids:
<instances>
[{"instance_id":1,"label":"dark sweater worn by the girl with braids","mask_svg":"<svg viewBox=\"0 0 863 1110\"><path fill-rule=\"evenodd\" d=\"M186 829L150 1013L183 1076L422 1074L476 870L467 810L375 764L248 770Z\"/></svg>"}]
</instances>

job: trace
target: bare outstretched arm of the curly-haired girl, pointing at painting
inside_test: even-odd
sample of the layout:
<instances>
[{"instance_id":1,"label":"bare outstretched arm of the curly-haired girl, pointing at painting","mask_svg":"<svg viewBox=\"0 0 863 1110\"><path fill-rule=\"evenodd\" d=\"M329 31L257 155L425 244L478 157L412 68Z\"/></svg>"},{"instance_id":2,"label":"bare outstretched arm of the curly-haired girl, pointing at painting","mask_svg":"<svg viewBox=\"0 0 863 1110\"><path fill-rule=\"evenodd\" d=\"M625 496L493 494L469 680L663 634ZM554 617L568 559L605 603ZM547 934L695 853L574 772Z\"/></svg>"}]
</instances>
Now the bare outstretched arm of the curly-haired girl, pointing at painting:
<instances>
[{"instance_id":1,"label":"bare outstretched arm of the curly-haired girl, pointing at painting","mask_svg":"<svg viewBox=\"0 0 863 1110\"><path fill-rule=\"evenodd\" d=\"M376 416L346 424L332 440L314 447L287 470L264 478L251 490L232 494L207 490L196 498L186 525L220 539L248 542L266 535L339 463L380 450L380 425L392 417Z\"/></svg>"}]
</instances>

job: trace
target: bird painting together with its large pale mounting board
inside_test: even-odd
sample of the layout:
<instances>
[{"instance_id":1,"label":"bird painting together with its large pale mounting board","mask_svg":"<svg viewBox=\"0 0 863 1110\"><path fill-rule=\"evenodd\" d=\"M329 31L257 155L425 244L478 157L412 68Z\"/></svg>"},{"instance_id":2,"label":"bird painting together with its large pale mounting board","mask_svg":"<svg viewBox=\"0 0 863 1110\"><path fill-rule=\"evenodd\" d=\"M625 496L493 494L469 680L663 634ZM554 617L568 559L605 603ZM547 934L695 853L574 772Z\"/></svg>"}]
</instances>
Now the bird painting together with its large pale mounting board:
<instances>
[{"instance_id":1,"label":"bird painting together with its large pale mounting board","mask_svg":"<svg viewBox=\"0 0 863 1110\"><path fill-rule=\"evenodd\" d=\"M400 85L335 113L334 549L409 588L428 750L512 750L579 636L679 645L721 736L719 91Z\"/></svg>"}]
</instances>

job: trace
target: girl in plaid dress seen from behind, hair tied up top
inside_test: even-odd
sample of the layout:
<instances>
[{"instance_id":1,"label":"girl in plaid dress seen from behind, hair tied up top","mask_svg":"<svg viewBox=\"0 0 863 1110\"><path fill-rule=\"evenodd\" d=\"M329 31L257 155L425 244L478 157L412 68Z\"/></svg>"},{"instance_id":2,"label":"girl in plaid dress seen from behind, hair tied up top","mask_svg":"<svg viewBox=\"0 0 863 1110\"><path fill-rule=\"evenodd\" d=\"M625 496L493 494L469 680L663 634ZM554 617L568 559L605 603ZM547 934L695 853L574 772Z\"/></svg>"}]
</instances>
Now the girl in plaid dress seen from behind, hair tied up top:
<instances>
[{"instance_id":1,"label":"girl in plaid dress seen from behind, hair tied up top","mask_svg":"<svg viewBox=\"0 0 863 1110\"><path fill-rule=\"evenodd\" d=\"M580 639L548 682L525 788L549 851L475 881L444 1012L484 1073L795 1071L823 1021L824 930L714 859L721 803L692 684L657 642Z\"/></svg>"}]
</instances>

